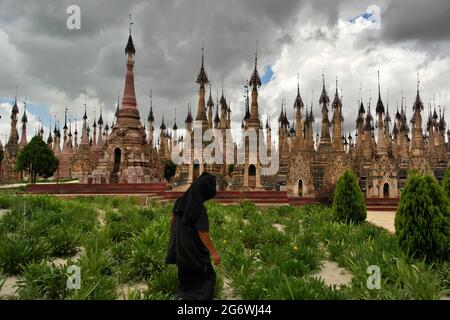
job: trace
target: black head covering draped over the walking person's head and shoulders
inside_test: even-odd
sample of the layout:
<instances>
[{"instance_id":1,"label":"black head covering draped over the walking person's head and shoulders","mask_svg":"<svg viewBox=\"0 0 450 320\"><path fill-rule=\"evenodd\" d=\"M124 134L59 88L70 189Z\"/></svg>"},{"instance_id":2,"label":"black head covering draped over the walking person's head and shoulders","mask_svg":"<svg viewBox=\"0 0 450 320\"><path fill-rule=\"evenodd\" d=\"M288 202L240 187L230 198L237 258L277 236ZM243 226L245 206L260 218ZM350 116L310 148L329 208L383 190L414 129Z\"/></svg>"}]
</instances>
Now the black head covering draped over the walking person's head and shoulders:
<instances>
[{"instance_id":1,"label":"black head covering draped over the walking person's head and shoulders","mask_svg":"<svg viewBox=\"0 0 450 320\"><path fill-rule=\"evenodd\" d=\"M183 216L183 222L196 221L203 210L203 203L216 195L216 177L204 172L195 180L183 196L177 199L173 212Z\"/></svg>"}]
</instances>

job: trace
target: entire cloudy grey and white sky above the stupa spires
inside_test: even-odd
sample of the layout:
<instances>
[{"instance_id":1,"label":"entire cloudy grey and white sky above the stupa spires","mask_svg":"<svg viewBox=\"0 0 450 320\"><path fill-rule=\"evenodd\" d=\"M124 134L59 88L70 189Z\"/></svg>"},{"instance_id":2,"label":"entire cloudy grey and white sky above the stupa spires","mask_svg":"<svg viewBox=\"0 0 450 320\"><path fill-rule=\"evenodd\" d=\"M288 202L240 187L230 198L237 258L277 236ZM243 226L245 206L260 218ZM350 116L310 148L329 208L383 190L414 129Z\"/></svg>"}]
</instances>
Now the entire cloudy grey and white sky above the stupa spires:
<instances>
[{"instance_id":1,"label":"entire cloudy grey and white sky above the stupa spires","mask_svg":"<svg viewBox=\"0 0 450 320\"><path fill-rule=\"evenodd\" d=\"M79 30L67 28L70 5L81 10ZM256 40L264 79L260 113L263 121L269 115L274 132L283 98L288 116L293 116L297 73L308 106L312 98L317 127L322 72L330 97L338 78L346 130L354 130L360 92L365 103L369 99L375 102L378 70L382 98L385 105L389 101L391 116L402 91L411 114L417 73L426 108L429 103L442 108L448 104L447 0L0 0L3 144L9 135L16 85L19 102L27 99L29 135L39 118L46 134L50 118L56 115L63 122L65 106L72 119L80 119L84 103L91 120L94 112L98 117L102 109L104 119L111 123L117 96L123 92L130 12L139 110L146 119L152 89L158 127L163 114L170 127L173 125L175 109L177 124L182 127L189 99L195 116L195 79L203 41L213 96L217 91L220 94L223 79L236 134ZM22 104L19 107L21 116Z\"/></svg>"}]
</instances>

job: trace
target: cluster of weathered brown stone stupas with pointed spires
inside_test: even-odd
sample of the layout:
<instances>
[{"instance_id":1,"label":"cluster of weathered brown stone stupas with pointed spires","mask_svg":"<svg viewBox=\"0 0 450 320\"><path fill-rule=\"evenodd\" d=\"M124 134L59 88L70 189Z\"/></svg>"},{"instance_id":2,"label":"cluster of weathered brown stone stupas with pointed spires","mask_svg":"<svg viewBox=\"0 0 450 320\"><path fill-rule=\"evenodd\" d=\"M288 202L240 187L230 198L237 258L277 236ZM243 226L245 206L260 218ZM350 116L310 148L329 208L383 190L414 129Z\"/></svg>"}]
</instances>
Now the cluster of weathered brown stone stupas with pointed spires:
<instances>
[{"instance_id":1,"label":"cluster of weathered brown stone stupas with pointed spires","mask_svg":"<svg viewBox=\"0 0 450 320\"><path fill-rule=\"evenodd\" d=\"M202 48L200 70L195 82L198 85L198 102L195 118L192 106L187 107L185 128L177 125L174 115L173 127L168 127L167 113L162 116L159 136L155 137L155 117L152 94L145 124L138 111L134 85L136 49L130 34L125 47L126 73L122 101L117 101L114 122L109 125L100 110L98 119L94 115L92 124L84 115L80 136L78 127L68 121L67 108L64 113L62 134L55 119L53 132L48 132L46 142L59 159L55 179L78 179L80 183L151 183L164 181L164 167L173 160L173 154L183 155L190 150L187 161L178 164L175 176L167 181L173 190L183 191L202 172L208 171L217 177L220 190L286 190L292 197L317 197L327 187L333 186L339 176L352 169L367 197L396 198L405 185L411 170L432 173L440 180L449 161L449 143L446 142L444 111L431 105L428 119L424 123L424 105L420 96L419 81L414 103L413 116L408 122L402 97L393 117L389 105L381 98L381 82L378 74L378 93L372 113L371 101L364 103L361 97L355 106L355 132L344 132L342 96L339 94L338 79L335 92L327 92L325 75L322 74L320 97L311 103L301 95L300 79L293 96L294 117L287 117L287 103L283 99L278 117L278 140L273 141L272 128L267 117L265 125L261 120L258 93L261 79L258 73L258 54L246 83L246 97L241 122L242 138L235 141L231 135L231 106L224 94L214 101L211 84L205 67ZM250 91L250 95L249 95ZM314 104L318 108L314 110ZM352 108L353 109L353 108ZM314 112L321 114L320 133L314 136ZM392 112L392 110L391 110ZM348 114L348 112L346 113ZM26 179L15 170L18 153L28 141L26 134L26 104L21 117L21 135L17 129L19 107L17 93L11 110L11 130L6 145L0 144L4 153L1 162L0 179L13 182ZM73 131L72 131L73 130ZM42 139L44 130L37 133ZM256 139L256 146L250 139ZM209 141L196 144L196 135L209 137ZM203 139L208 140L208 139ZM448 139L447 139L448 141ZM211 144L216 146L211 151ZM262 153L261 153L262 151ZM216 159L211 163L207 154ZM263 173L268 164L261 154L276 156L278 170ZM220 160L220 161L219 161Z\"/></svg>"}]
</instances>

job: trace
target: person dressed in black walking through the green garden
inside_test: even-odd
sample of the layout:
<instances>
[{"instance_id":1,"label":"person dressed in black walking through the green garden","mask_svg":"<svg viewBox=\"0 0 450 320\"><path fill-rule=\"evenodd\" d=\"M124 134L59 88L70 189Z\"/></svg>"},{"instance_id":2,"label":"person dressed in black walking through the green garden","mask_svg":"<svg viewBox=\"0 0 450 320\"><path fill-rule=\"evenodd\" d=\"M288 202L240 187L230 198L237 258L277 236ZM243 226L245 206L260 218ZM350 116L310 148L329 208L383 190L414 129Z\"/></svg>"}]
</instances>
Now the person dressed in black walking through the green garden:
<instances>
[{"instance_id":1,"label":"person dressed in black walking through the green garden","mask_svg":"<svg viewBox=\"0 0 450 320\"><path fill-rule=\"evenodd\" d=\"M214 298L216 273L211 258L216 266L221 258L209 236L204 202L216 195L216 184L215 176L204 172L174 204L165 262L178 267L177 299Z\"/></svg>"}]
</instances>

